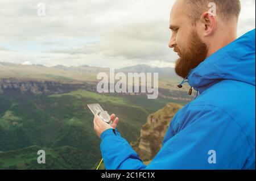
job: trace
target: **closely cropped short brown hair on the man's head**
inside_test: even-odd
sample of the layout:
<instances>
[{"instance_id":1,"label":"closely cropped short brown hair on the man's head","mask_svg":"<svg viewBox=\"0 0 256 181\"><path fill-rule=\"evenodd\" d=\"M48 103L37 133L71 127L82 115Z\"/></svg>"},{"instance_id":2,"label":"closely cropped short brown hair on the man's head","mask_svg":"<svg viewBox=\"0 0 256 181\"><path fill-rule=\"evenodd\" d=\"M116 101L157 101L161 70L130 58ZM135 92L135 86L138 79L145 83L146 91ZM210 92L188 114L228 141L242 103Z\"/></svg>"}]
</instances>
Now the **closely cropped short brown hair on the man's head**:
<instances>
[{"instance_id":1,"label":"closely cropped short brown hair on the man's head","mask_svg":"<svg viewBox=\"0 0 256 181\"><path fill-rule=\"evenodd\" d=\"M189 17L192 18L192 24L200 19L200 16L204 11L210 9L209 3L216 4L216 15L220 16L222 20L228 22L230 18L239 18L241 12L240 0L185 0L185 6L187 7Z\"/></svg>"}]
</instances>

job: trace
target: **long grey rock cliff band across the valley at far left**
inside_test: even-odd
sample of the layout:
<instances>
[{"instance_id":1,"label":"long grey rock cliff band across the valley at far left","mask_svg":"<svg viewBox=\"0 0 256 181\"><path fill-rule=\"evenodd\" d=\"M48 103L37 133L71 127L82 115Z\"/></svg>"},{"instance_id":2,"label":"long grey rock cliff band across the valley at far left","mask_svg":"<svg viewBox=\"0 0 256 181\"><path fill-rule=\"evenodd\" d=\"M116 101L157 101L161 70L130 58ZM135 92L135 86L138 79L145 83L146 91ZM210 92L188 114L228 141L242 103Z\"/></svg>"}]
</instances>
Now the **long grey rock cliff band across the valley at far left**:
<instances>
[{"instance_id":1,"label":"long grey rock cliff band across the valley at far left","mask_svg":"<svg viewBox=\"0 0 256 181\"><path fill-rule=\"evenodd\" d=\"M0 94L8 92L19 92L20 94L62 94L65 92L86 89L95 91L95 86L87 83L72 84L54 81L20 81L18 79L0 79Z\"/></svg>"}]
</instances>

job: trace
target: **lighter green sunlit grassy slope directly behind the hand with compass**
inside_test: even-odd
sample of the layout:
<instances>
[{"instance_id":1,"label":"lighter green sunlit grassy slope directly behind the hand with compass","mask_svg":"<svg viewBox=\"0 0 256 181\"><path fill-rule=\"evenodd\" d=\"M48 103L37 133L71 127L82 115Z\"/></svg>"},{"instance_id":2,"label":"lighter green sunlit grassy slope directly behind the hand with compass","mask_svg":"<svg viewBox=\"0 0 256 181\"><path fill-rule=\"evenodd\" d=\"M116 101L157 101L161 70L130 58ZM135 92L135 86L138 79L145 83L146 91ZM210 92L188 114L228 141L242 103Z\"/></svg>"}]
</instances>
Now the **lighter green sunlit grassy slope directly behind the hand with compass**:
<instances>
[{"instance_id":1,"label":"lighter green sunlit grassy slope directly behind the hand with compass","mask_svg":"<svg viewBox=\"0 0 256 181\"><path fill-rule=\"evenodd\" d=\"M83 111L77 112L76 117L79 118L81 115L86 115L86 121L91 126L93 126L93 115L86 104L100 103L104 110L108 111L110 114L115 113L115 115L119 117L118 130L128 141L137 139L139 129L146 123L146 118L149 114L149 112L141 106L131 103L129 99L97 94L85 90L77 90L69 94L52 95L49 97L55 99L64 98L65 100L76 98L76 100L73 101L73 107L82 106L80 110L84 109ZM133 117L130 115L133 115Z\"/></svg>"}]
</instances>

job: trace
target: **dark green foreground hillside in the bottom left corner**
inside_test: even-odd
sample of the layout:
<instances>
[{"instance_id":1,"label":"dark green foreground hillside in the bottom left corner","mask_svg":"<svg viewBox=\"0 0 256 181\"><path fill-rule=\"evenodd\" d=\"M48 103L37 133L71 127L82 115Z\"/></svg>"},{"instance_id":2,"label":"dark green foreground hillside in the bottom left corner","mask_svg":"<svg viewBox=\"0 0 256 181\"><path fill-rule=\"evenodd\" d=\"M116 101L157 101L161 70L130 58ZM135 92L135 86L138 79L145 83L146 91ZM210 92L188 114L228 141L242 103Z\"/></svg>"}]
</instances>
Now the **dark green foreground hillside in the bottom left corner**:
<instances>
[{"instance_id":1,"label":"dark green foreground hillside in the bottom left corner","mask_svg":"<svg viewBox=\"0 0 256 181\"><path fill-rule=\"evenodd\" d=\"M46 151L46 163L38 164L38 150ZM71 157L72 155L72 157ZM42 146L29 146L27 148L0 153L1 169L88 169L88 161L94 162L83 151L63 146L49 149Z\"/></svg>"}]
</instances>

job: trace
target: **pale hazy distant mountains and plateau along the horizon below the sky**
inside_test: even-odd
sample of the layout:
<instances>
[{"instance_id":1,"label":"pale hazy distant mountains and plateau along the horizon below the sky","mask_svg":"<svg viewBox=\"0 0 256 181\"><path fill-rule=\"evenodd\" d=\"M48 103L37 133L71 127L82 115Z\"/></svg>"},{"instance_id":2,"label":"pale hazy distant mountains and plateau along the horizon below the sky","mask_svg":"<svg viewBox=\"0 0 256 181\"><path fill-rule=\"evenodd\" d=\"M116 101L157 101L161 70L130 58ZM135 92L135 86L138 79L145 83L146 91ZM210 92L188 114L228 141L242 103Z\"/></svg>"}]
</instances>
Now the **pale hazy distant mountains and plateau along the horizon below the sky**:
<instances>
[{"instance_id":1,"label":"pale hazy distant mountains and plateau along the horizon below the sky","mask_svg":"<svg viewBox=\"0 0 256 181\"><path fill-rule=\"evenodd\" d=\"M22 81L61 81L68 83L90 82L97 83L97 74L109 74L109 68L84 66L57 65L46 67L43 65L21 65L0 62L0 79L15 78ZM155 68L148 65L135 65L115 69L115 73L159 73L159 87L163 89L176 89L177 77L174 68Z\"/></svg>"}]
</instances>

